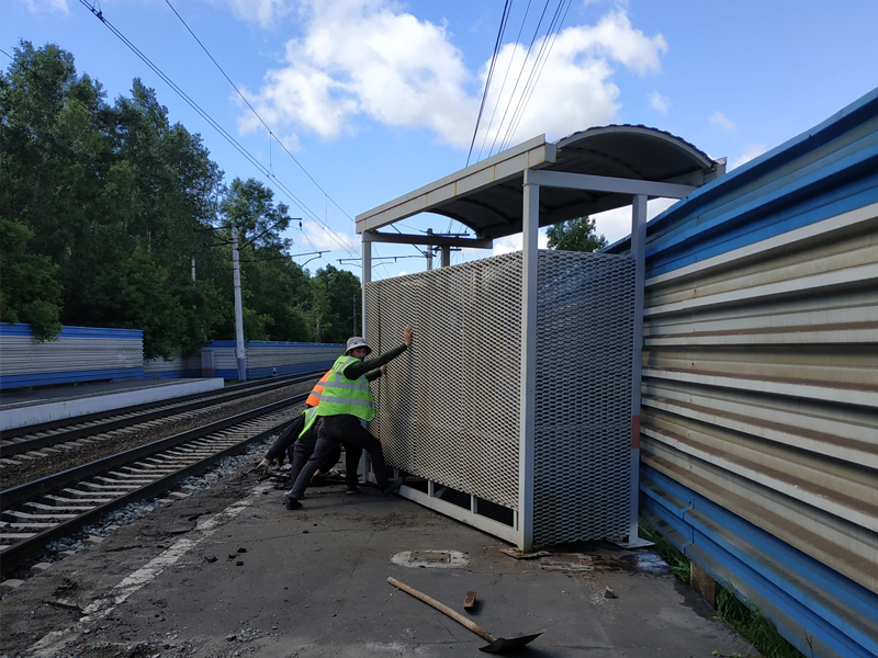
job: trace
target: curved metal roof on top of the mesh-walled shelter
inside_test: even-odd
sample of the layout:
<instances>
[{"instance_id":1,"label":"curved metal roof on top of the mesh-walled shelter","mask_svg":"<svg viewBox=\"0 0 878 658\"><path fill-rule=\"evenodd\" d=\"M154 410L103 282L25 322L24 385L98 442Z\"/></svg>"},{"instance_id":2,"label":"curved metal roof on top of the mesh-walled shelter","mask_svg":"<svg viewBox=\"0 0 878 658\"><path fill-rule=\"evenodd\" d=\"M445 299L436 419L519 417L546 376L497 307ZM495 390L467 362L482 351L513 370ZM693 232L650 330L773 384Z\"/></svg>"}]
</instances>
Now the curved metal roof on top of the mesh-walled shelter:
<instances>
[{"instance_id":1,"label":"curved metal roof on top of the mesh-walled shelter","mask_svg":"<svg viewBox=\"0 0 878 658\"><path fill-rule=\"evenodd\" d=\"M679 137L641 125L594 127L553 143L540 136L358 215L357 232L419 213L455 219L480 238L521 232L529 169L694 188L724 173L724 163ZM540 226L630 205L631 192L624 185L616 189L623 191L541 185Z\"/></svg>"}]
</instances>

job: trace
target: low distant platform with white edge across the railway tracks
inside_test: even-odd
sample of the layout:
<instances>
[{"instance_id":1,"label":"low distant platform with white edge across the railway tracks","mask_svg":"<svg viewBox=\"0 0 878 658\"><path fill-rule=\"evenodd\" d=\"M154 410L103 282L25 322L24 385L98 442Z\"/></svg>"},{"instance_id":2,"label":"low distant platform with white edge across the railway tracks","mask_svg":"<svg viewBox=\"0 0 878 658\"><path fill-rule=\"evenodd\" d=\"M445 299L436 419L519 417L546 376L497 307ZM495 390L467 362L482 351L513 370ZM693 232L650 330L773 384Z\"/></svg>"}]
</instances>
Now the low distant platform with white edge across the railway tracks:
<instances>
[{"instance_id":1,"label":"low distant platform with white edge across the railway tracks","mask_svg":"<svg viewBox=\"0 0 878 658\"><path fill-rule=\"evenodd\" d=\"M209 379L124 379L0 394L0 431L223 388Z\"/></svg>"}]
</instances>

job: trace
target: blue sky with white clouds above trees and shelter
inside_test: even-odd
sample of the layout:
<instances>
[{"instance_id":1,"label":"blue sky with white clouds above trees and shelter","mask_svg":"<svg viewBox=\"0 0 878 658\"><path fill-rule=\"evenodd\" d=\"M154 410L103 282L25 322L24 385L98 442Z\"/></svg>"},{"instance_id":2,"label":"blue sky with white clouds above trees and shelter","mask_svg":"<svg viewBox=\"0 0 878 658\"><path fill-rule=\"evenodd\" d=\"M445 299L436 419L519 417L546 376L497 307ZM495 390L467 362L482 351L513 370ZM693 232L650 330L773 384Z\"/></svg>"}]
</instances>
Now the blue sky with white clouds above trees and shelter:
<instances>
[{"instance_id":1,"label":"blue sky with white clouds above trees and shelter","mask_svg":"<svg viewBox=\"0 0 878 658\"><path fill-rule=\"evenodd\" d=\"M876 25L875 0L0 0L0 66L25 39L69 50L110 102L140 78L226 182L256 178L290 206L296 262L360 275L358 214L541 134L642 124L732 170L878 87ZM627 208L596 220L610 242L630 232ZM465 231L402 223L427 228ZM372 279L423 271L421 250L375 246Z\"/></svg>"}]
</instances>

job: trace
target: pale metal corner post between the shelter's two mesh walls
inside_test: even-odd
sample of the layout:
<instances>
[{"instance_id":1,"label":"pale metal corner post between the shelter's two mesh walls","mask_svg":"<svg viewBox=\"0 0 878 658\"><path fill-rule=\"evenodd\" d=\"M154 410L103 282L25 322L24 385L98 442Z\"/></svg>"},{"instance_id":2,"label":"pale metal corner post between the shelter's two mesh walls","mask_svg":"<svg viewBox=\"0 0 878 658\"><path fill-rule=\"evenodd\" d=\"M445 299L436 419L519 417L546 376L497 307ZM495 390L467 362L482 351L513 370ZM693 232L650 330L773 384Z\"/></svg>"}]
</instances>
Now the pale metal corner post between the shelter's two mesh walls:
<instances>
[{"instance_id":1,"label":"pale metal corner post between the shelter's two mesh walls","mask_svg":"<svg viewBox=\"0 0 878 658\"><path fill-rule=\"evenodd\" d=\"M518 438L519 548L533 546L533 444L537 400L537 245L540 227L540 186L528 182L521 234L521 415Z\"/></svg>"}]
</instances>

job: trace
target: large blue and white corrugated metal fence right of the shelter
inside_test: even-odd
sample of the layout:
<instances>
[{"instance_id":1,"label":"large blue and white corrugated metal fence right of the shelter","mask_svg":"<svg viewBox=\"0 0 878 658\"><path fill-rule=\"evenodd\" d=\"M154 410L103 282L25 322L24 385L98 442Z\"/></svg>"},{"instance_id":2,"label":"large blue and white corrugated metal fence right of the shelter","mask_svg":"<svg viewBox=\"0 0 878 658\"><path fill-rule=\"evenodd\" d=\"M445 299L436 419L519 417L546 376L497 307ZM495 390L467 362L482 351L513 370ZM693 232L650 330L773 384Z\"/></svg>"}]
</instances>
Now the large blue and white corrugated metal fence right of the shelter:
<instances>
[{"instance_id":1,"label":"large blue and white corrugated metal fence right of the shelter","mask_svg":"<svg viewBox=\"0 0 878 658\"><path fill-rule=\"evenodd\" d=\"M878 90L656 217L646 269L642 513L804 655L878 656Z\"/></svg>"}]
</instances>

